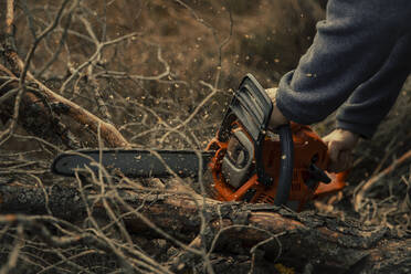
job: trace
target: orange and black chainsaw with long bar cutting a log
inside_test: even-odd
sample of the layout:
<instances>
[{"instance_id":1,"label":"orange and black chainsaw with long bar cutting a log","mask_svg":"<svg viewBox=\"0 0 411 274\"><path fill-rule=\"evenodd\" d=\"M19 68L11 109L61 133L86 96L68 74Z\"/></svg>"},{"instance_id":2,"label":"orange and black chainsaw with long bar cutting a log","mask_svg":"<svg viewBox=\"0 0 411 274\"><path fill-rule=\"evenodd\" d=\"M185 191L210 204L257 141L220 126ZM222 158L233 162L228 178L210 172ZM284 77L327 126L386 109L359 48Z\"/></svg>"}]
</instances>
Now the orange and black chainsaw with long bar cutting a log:
<instances>
[{"instance_id":1,"label":"orange and black chainsaw with long bar cutting a log","mask_svg":"<svg viewBox=\"0 0 411 274\"><path fill-rule=\"evenodd\" d=\"M314 198L345 187L346 172L329 173L327 146L306 125L268 128L273 103L247 74L234 93L205 150L82 149L59 155L52 171L81 170L129 178L211 178L211 198L285 205L295 211ZM208 173L208 177L203 175ZM211 176L210 176L211 175Z\"/></svg>"}]
</instances>

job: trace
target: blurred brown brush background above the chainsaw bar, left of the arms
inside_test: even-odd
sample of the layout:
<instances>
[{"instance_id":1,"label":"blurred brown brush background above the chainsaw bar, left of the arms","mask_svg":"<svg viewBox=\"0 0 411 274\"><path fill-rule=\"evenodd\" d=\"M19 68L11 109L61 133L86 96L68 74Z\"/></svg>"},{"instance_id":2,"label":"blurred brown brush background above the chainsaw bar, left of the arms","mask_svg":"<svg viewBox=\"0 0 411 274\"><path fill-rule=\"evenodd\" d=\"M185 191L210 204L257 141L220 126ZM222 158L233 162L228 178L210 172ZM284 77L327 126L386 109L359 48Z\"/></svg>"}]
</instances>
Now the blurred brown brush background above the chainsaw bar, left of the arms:
<instances>
[{"instance_id":1,"label":"blurred brown brush background above the chainsaw bar, left of the arms","mask_svg":"<svg viewBox=\"0 0 411 274\"><path fill-rule=\"evenodd\" d=\"M230 91L241 78L250 72L263 86L276 85L281 75L297 64L310 44L315 22L324 18L324 9L316 0L105 3L80 2L74 15L63 18L61 27L40 43L31 68L41 72L48 85L98 114L95 86L89 84L89 77L96 77L114 124L134 143L150 146L178 146L181 140L176 141L176 134L170 134L159 143L158 136L164 130L152 128L157 127L158 118L138 104L177 125L210 94L211 89L201 82L218 88L191 123L181 128L198 136L196 146L203 147L221 120ZM21 1L20 4L17 44L24 56L33 33L45 28L60 3ZM64 25L70 28L62 43ZM62 88L62 83L96 52L96 41L131 32L138 35L99 52L98 61L92 62L94 75L88 75L88 68L78 70ZM187 145L182 141L182 146Z\"/></svg>"}]
</instances>

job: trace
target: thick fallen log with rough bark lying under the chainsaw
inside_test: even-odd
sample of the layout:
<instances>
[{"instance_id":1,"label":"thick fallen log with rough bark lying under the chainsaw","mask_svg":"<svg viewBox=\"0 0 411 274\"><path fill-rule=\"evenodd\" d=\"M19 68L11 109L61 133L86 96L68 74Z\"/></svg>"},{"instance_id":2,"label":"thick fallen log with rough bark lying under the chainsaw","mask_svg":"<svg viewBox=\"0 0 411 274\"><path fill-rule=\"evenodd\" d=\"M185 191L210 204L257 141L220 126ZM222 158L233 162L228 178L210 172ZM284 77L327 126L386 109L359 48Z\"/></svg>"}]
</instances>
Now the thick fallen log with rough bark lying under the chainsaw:
<instances>
[{"instance_id":1,"label":"thick fallen log with rough bark lying under the chainsaw","mask_svg":"<svg viewBox=\"0 0 411 274\"><path fill-rule=\"evenodd\" d=\"M139 209L123 218L129 232L165 233L186 242L199 235L201 240L193 246L209 251L257 249L268 260L280 255L280 262L313 273L407 273L411 262L411 239L396 239L386 228L366 226L355 220L185 193L126 189L117 193L125 202L117 204L122 212ZM57 218L80 221L86 217L80 197L73 187L41 189L12 183L0 187L0 212L46 214L49 208ZM95 205L94 213L105 214L103 204ZM205 229L200 232L201 220L205 220ZM179 260L179 265L198 263L196 255Z\"/></svg>"}]
</instances>

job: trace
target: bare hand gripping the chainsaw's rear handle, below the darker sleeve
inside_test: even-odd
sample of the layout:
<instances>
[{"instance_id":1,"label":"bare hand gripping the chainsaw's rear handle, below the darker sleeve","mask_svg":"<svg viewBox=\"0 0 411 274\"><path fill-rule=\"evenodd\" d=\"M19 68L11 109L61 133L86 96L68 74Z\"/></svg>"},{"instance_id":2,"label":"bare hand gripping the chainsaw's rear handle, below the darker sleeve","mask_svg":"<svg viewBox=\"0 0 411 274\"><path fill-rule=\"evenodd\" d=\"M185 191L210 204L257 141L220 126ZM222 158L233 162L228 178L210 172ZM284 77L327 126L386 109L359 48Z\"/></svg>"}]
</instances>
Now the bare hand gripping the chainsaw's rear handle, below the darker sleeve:
<instances>
[{"instance_id":1,"label":"bare hand gripping the chainsaw's rear handle, below the darker sleeve","mask_svg":"<svg viewBox=\"0 0 411 274\"><path fill-rule=\"evenodd\" d=\"M323 140L328 147L330 158L328 171L341 172L352 166L352 149L359 140L358 134L337 128Z\"/></svg>"}]
</instances>

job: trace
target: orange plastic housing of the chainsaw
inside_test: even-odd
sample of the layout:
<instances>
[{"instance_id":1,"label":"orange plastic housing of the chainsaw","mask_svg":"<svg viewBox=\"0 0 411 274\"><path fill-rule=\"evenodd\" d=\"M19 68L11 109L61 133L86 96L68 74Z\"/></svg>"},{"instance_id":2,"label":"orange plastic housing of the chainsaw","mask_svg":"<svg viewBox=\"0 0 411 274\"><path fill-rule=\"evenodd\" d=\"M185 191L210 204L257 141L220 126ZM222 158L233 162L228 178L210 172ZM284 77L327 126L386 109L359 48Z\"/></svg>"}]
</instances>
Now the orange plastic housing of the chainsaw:
<instances>
[{"instance_id":1,"label":"orange plastic housing of the chainsaw","mask_svg":"<svg viewBox=\"0 0 411 274\"><path fill-rule=\"evenodd\" d=\"M347 173L341 172L336 175L327 172L331 182L325 185L320 181L312 181L309 183L309 166L312 162L315 162L316 167L322 170L327 169L329 164L327 146L309 126L292 123L291 129L294 143L294 170L289 198L285 205L301 211L307 201L318 196L342 189L346 186L345 178ZM267 134L263 141L263 162L266 173L273 178L271 186L264 186L259 182L257 175L254 173L241 187L232 187L226 182L226 179L221 172L221 162L226 152L228 143L222 143L218 138L214 138L209 144L208 149L217 149L209 166L213 176L212 187L215 199L221 201L246 200L254 203L274 203L274 197L277 190L280 159L281 157L285 157L281 155L280 139L274 134Z\"/></svg>"}]
</instances>

